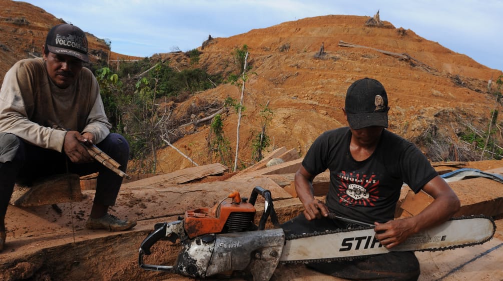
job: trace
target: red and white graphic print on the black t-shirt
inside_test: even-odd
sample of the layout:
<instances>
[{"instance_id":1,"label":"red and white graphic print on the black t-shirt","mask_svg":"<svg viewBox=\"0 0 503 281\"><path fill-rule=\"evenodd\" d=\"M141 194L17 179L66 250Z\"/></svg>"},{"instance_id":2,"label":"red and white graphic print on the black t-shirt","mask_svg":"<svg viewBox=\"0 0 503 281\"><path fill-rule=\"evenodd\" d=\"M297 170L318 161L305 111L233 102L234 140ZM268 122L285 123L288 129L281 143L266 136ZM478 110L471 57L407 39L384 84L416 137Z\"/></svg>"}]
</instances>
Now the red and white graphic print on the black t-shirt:
<instances>
[{"instance_id":1,"label":"red and white graphic print on the black t-shirt","mask_svg":"<svg viewBox=\"0 0 503 281\"><path fill-rule=\"evenodd\" d=\"M341 184L338 186L337 195L339 203L346 205L375 206L374 202L379 198L379 180L375 175L370 177L360 173L349 173L341 171L337 175Z\"/></svg>"}]
</instances>

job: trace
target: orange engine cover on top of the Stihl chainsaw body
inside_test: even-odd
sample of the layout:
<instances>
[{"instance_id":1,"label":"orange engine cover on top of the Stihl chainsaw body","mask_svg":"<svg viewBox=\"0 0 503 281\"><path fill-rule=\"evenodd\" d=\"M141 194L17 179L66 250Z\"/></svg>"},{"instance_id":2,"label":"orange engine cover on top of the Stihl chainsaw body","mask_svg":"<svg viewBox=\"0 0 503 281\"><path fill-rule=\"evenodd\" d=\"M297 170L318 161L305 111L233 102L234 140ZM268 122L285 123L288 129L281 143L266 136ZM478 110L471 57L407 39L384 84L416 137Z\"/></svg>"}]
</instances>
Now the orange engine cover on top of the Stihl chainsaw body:
<instances>
[{"instance_id":1,"label":"orange engine cover on top of the Stihl chainsaw body","mask_svg":"<svg viewBox=\"0 0 503 281\"><path fill-rule=\"evenodd\" d=\"M232 198L232 201L224 201ZM198 208L185 212L184 229L192 239L204 234L222 233L229 217L244 216L253 223L257 210L251 203L241 200L237 191L231 193L212 208Z\"/></svg>"}]
</instances>

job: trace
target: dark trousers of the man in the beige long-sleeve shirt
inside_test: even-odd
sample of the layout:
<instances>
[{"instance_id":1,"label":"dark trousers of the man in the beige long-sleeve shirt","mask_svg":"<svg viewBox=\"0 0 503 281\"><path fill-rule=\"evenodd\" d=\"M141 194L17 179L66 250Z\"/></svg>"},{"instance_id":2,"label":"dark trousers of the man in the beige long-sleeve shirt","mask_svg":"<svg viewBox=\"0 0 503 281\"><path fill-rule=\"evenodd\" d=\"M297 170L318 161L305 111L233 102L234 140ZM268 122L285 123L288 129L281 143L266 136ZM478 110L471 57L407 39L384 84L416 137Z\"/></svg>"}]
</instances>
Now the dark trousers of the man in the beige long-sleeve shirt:
<instances>
[{"instance_id":1,"label":"dark trousers of the man in the beige long-sleeve shirt","mask_svg":"<svg viewBox=\"0 0 503 281\"><path fill-rule=\"evenodd\" d=\"M129 144L122 135L110 133L96 146L117 161L123 172L126 171ZM0 133L0 159L5 162L0 163L0 217L7 213L16 182L30 185L36 179L56 174L83 176L98 172L94 202L106 206L115 204L122 184L121 176L97 161L75 164L64 153L30 145L10 133Z\"/></svg>"}]
</instances>

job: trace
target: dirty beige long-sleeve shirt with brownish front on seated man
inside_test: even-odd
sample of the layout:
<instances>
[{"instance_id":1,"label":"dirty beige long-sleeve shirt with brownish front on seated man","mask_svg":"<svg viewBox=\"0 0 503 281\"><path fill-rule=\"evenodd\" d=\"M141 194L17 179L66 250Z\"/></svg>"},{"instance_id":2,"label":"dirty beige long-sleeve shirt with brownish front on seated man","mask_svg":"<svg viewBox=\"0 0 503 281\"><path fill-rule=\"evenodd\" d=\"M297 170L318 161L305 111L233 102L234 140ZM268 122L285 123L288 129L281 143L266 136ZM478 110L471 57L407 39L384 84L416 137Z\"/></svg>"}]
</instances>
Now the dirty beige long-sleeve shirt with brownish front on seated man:
<instances>
[{"instance_id":1,"label":"dirty beige long-sleeve shirt with brownish front on seated man","mask_svg":"<svg viewBox=\"0 0 503 281\"><path fill-rule=\"evenodd\" d=\"M93 73L82 67L66 89L52 83L40 58L18 61L5 75L0 89L0 132L13 133L26 142L62 151L65 131L91 132L95 143L109 133L100 89Z\"/></svg>"}]
</instances>

